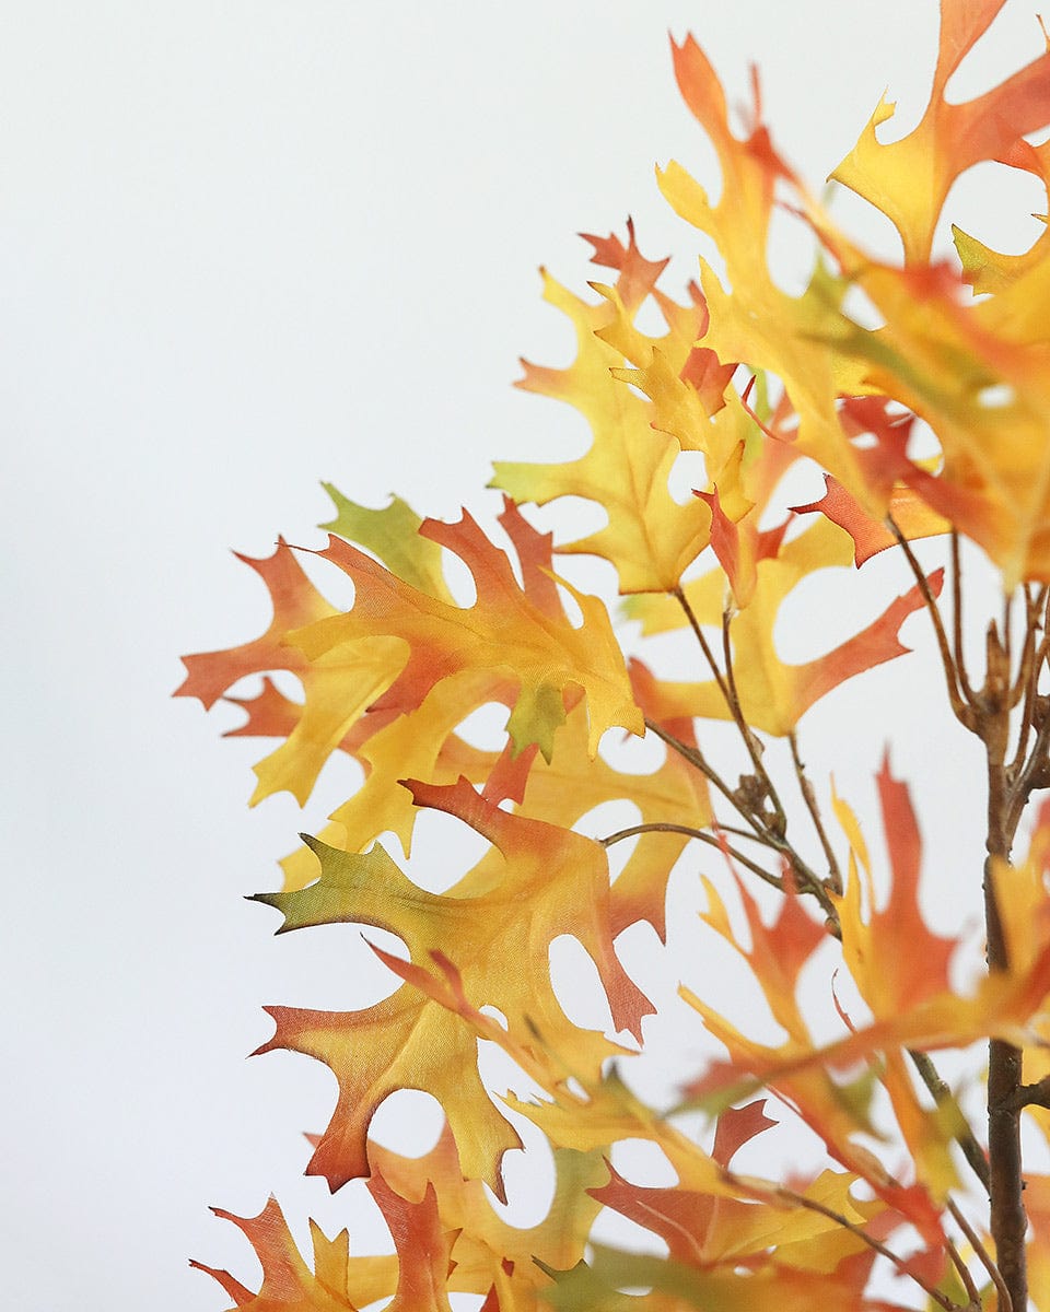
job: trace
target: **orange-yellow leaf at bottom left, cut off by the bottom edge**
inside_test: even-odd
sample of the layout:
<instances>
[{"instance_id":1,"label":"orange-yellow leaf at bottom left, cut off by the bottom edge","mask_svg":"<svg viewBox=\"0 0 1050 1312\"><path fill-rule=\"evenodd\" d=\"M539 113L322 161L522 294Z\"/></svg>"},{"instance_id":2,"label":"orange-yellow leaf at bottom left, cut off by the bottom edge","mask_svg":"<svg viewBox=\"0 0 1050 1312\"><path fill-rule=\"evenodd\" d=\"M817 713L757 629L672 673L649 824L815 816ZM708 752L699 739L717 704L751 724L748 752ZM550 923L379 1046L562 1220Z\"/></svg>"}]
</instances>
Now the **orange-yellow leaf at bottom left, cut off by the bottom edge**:
<instances>
[{"instance_id":1,"label":"orange-yellow leaf at bottom left, cut off by the bottom edge","mask_svg":"<svg viewBox=\"0 0 1050 1312\"><path fill-rule=\"evenodd\" d=\"M329 1240L314 1221L310 1223L314 1246L311 1271L295 1246L276 1198L270 1198L257 1216L234 1216L219 1208L213 1211L244 1232L262 1266L262 1284L253 1294L228 1271L205 1266L203 1262L190 1262L190 1266L218 1281L235 1307L247 1308L248 1312L356 1312L358 1307L365 1307L365 1302L350 1302L346 1231ZM357 1258L357 1262L366 1263L378 1274L381 1287L386 1286L387 1292L392 1288L394 1270L390 1258Z\"/></svg>"}]
</instances>

